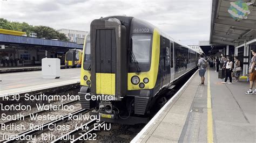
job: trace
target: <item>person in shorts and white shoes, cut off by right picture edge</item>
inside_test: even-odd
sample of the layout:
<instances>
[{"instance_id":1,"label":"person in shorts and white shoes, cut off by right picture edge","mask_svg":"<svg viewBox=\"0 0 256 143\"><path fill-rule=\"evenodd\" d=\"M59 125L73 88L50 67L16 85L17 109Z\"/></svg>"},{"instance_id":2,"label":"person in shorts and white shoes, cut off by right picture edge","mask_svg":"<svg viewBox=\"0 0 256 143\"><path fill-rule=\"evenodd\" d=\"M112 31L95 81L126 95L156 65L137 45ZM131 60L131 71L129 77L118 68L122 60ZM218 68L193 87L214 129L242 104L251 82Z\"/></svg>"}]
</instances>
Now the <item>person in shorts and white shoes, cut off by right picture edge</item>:
<instances>
[{"instance_id":1,"label":"person in shorts and white shoes, cut off by right picture edge","mask_svg":"<svg viewBox=\"0 0 256 143\"><path fill-rule=\"evenodd\" d=\"M255 94L256 93L256 89L252 91L252 87L254 85L254 81L256 81L256 70L255 70L255 62L256 62L256 49L252 49L252 59L251 59L251 63L250 63L250 67L249 67L249 74L250 74L250 89L248 91L245 92L245 94Z\"/></svg>"}]
</instances>

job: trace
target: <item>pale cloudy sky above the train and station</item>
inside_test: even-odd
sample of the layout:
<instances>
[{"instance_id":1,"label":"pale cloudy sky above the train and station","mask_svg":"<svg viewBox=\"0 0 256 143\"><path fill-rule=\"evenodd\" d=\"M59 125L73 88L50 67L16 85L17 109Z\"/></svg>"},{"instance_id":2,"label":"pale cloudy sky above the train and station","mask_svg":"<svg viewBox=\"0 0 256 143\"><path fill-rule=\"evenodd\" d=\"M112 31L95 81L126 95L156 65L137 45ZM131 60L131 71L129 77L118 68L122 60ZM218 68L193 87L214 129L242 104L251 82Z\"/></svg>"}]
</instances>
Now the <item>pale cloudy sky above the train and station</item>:
<instances>
[{"instance_id":1,"label":"pale cloudy sky above the train and station","mask_svg":"<svg viewBox=\"0 0 256 143\"><path fill-rule=\"evenodd\" d=\"M146 20L183 44L209 40L211 0L0 0L0 17L55 29L90 30L93 19L126 15Z\"/></svg>"}]
</instances>

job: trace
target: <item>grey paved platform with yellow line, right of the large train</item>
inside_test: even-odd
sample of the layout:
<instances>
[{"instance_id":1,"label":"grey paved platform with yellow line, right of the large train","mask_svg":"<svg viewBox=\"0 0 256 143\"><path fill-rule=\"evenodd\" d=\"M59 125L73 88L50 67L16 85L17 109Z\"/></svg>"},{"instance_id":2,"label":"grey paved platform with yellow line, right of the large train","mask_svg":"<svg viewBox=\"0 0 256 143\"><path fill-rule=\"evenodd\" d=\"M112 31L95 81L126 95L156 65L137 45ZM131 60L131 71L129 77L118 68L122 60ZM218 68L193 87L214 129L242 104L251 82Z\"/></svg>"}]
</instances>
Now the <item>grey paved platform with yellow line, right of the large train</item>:
<instances>
[{"instance_id":1,"label":"grey paved platform with yellow line, right of the large train","mask_svg":"<svg viewBox=\"0 0 256 143\"><path fill-rule=\"evenodd\" d=\"M197 71L131 142L255 142L256 95L244 94L249 83L223 84L213 70L205 75L200 86Z\"/></svg>"}]
</instances>

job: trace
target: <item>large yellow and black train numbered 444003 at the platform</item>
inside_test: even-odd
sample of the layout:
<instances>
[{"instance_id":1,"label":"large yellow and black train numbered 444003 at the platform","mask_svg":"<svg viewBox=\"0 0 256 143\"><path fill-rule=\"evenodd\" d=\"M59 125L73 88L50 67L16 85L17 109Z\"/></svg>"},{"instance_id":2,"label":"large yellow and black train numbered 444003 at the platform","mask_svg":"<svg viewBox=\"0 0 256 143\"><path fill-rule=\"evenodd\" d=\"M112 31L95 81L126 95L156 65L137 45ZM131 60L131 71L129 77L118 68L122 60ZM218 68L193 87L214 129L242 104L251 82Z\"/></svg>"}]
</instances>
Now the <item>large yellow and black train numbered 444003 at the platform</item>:
<instances>
[{"instance_id":1,"label":"large yellow and black train numbered 444003 at the platform","mask_svg":"<svg viewBox=\"0 0 256 143\"><path fill-rule=\"evenodd\" d=\"M156 26L128 16L93 20L83 50L82 108L118 124L149 121L161 93L197 68L199 59Z\"/></svg>"}]
</instances>

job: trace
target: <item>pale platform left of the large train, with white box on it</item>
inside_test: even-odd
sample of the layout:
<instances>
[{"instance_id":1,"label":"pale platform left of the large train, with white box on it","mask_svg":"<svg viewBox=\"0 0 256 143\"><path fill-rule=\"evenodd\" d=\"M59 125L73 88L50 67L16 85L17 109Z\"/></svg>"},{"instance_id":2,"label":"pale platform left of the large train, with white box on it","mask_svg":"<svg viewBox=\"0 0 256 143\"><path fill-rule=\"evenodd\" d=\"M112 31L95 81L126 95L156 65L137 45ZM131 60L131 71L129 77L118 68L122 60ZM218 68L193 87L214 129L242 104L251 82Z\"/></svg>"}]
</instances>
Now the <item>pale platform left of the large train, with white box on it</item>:
<instances>
[{"instance_id":1,"label":"pale platform left of the large train, with white box on it","mask_svg":"<svg viewBox=\"0 0 256 143\"><path fill-rule=\"evenodd\" d=\"M10 73L0 75L0 97L25 94L35 91L52 91L80 84L80 68L60 69L60 78L42 78L42 71Z\"/></svg>"}]
</instances>

